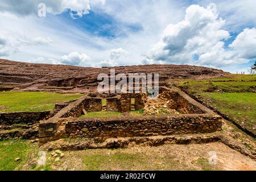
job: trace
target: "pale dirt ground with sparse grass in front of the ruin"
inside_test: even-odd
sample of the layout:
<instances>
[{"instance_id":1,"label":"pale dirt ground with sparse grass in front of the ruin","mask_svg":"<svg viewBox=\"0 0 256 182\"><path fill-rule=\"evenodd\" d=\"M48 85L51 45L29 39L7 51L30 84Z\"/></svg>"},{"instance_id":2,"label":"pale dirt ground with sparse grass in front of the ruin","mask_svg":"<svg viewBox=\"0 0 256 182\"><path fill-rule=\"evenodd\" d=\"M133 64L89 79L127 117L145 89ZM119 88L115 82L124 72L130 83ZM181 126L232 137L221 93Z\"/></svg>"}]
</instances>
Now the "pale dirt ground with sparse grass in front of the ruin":
<instances>
[{"instance_id":1,"label":"pale dirt ground with sparse grass in front of the ruin","mask_svg":"<svg viewBox=\"0 0 256 182\"><path fill-rule=\"evenodd\" d=\"M211 151L216 165L209 164ZM50 159L53 170L250 170L256 161L220 142L209 144L165 144L159 147L135 146L116 150L66 151L59 162ZM47 159L50 156L47 152Z\"/></svg>"}]
</instances>

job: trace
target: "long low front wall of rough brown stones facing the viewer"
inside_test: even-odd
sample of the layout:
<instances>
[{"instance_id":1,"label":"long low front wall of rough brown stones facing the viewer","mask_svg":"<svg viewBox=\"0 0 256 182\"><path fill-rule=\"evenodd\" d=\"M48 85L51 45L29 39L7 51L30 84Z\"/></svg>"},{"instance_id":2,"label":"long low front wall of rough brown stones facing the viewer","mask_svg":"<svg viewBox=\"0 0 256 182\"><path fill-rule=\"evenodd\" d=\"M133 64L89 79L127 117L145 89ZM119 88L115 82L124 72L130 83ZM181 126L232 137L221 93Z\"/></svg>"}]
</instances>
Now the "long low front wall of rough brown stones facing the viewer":
<instances>
[{"instance_id":1,"label":"long low front wall of rough brown stones facing the viewer","mask_svg":"<svg viewBox=\"0 0 256 182\"><path fill-rule=\"evenodd\" d=\"M60 123L65 123L63 133L57 133ZM40 137L46 140L59 138L94 137L148 137L154 135L213 133L221 130L221 117L218 115L183 115L170 117L129 118L65 118L59 123L48 123L40 127ZM42 131L42 129L45 129ZM43 139L44 140L44 139Z\"/></svg>"}]
</instances>

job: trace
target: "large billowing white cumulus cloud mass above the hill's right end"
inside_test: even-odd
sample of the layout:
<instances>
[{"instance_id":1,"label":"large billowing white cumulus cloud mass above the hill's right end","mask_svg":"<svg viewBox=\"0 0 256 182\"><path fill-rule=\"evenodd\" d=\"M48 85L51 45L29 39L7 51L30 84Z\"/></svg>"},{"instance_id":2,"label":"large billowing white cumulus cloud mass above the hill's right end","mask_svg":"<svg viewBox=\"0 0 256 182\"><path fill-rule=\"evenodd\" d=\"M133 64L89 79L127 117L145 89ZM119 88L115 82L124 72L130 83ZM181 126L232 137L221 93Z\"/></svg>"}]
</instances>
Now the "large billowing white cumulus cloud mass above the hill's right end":
<instances>
[{"instance_id":1,"label":"large billowing white cumulus cloud mass above the hill's right end","mask_svg":"<svg viewBox=\"0 0 256 182\"><path fill-rule=\"evenodd\" d=\"M216 5L210 4L206 8L191 5L186 10L184 20L167 26L162 39L147 53L143 63L222 67L254 59L255 28L246 28L229 48L225 48L224 40L229 39L230 35L224 30L224 25L225 20L218 16Z\"/></svg>"}]
</instances>

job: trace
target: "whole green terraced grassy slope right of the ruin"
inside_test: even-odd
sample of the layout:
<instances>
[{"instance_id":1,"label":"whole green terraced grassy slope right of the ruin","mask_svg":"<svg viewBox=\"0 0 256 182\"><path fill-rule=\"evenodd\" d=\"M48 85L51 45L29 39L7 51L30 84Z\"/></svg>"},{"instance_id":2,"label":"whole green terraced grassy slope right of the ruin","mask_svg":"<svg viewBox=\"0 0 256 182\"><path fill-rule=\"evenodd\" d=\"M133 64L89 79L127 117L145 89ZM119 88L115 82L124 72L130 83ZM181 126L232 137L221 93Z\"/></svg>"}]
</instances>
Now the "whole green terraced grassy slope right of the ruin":
<instances>
[{"instance_id":1,"label":"whole green terraced grassy slope right of the ruin","mask_svg":"<svg viewBox=\"0 0 256 182\"><path fill-rule=\"evenodd\" d=\"M256 133L256 75L180 80L178 85Z\"/></svg>"}]
</instances>

